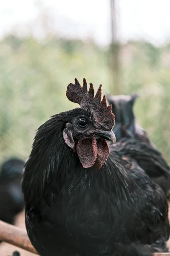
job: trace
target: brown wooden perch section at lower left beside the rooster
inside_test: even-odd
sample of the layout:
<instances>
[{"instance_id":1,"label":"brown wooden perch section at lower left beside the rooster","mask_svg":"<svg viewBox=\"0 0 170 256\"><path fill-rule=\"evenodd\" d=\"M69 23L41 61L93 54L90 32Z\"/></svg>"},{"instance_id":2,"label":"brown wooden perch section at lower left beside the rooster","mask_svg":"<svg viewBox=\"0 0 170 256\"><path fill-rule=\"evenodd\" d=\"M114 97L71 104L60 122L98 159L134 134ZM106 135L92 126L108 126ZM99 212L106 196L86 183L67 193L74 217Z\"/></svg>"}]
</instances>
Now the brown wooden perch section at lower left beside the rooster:
<instances>
[{"instance_id":1,"label":"brown wooden perch section at lower left beside the rooster","mask_svg":"<svg viewBox=\"0 0 170 256\"><path fill-rule=\"evenodd\" d=\"M25 230L0 221L0 241L13 244L31 253L38 254L32 246Z\"/></svg>"}]
</instances>

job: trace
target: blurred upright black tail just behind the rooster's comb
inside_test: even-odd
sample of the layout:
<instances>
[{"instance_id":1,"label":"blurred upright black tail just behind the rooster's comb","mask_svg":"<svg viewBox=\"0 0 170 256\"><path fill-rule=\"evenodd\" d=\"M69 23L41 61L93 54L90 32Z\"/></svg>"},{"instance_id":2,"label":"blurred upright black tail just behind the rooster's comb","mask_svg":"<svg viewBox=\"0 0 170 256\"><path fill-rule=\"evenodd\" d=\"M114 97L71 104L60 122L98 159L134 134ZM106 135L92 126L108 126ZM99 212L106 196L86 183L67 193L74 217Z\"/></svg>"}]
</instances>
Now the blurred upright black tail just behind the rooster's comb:
<instances>
[{"instance_id":1,"label":"blurred upright black tail just behind the rooster's comb","mask_svg":"<svg viewBox=\"0 0 170 256\"><path fill-rule=\"evenodd\" d=\"M107 94L108 102L112 105L112 112L115 114L115 126L113 132L116 136L116 142L122 137L133 137L153 145L150 142L146 131L144 131L144 129L135 121L133 105L137 98L138 95L136 93L133 93L130 96L111 96Z\"/></svg>"}]
</instances>

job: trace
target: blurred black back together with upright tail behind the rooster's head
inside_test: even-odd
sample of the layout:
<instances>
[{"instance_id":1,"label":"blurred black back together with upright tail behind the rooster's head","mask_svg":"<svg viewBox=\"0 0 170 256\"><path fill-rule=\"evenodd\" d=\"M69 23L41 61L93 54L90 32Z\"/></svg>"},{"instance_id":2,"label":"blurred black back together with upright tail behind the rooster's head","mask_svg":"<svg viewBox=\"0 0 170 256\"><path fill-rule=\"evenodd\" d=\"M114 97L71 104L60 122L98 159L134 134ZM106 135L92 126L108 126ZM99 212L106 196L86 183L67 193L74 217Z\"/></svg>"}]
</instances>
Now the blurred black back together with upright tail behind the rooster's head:
<instances>
[{"instance_id":1,"label":"blurred black back together with upright tail behind the rooster's head","mask_svg":"<svg viewBox=\"0 0 170 256\"><path fill-rule=\"evenodd\" d=\"M115 114L113 132L116 142L121 141L120 144L124 145L124 151L120 150L119 154L133 157L147 175L161 186L170 200L170 166L156 146L150 142L144 129L136 124L133 105L137 98L135 93L130 96L107 95Z\"/></svg>"}]
</instances>

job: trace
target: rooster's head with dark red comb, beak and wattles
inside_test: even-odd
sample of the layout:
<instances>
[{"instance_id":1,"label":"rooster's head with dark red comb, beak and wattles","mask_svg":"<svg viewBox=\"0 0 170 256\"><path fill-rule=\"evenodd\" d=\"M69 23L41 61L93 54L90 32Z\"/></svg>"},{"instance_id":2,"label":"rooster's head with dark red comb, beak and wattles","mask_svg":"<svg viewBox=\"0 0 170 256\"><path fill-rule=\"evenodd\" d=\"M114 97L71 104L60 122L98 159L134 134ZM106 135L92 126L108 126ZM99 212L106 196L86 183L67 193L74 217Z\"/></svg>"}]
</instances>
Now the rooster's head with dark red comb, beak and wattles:
<instances>
[{"instance_id":1,"label":"rooster's head with dark red comb, beak and wattles","mask_svg":"<svg viewBox=\"0 0 170 256\"><path fill-rule=\"evenodd\" d=\"M63 138L65 143L78 154L84 168L94 166L100 169L108 159L110 153L107 140L115 143L116 138L112 131L114 114L112 105L107 106L105 95L101 101L102 85L94 96L94 87L83 79L83 86L75 79L75 84L68 84L67 98L78 103L81 111L65 125ZM78 113L78 114L77 114Z\"/></svg>"}]
</instances>

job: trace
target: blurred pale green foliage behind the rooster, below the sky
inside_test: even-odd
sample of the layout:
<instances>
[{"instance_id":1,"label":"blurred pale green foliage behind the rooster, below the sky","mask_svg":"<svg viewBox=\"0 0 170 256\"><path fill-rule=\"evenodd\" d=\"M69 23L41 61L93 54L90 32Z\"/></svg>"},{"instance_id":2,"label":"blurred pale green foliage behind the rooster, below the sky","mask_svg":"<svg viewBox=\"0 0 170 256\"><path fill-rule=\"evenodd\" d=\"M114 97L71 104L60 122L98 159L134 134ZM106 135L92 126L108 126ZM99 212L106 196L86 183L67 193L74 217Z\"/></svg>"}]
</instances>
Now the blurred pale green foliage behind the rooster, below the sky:
<instances>
[{"instance_id":1,"label":"blurred pale green foliage behind the rooster, below the sky","mask_svg":"<svg viewBox=\"0 0 170 256\"><path fill-rule=\"evenodd\" d=\"M0 161L27 158L35 130L49 116L75 108L65 96L68 83L85 77L103 92L111 90L109 49L92 41L18 38L0 41ZM137 121L170 163L170 45L147 42L120 47L124 94L134 91ZM114 88L113 88L114 91Z\"/></svg>"}]
</instances>

